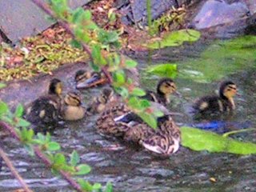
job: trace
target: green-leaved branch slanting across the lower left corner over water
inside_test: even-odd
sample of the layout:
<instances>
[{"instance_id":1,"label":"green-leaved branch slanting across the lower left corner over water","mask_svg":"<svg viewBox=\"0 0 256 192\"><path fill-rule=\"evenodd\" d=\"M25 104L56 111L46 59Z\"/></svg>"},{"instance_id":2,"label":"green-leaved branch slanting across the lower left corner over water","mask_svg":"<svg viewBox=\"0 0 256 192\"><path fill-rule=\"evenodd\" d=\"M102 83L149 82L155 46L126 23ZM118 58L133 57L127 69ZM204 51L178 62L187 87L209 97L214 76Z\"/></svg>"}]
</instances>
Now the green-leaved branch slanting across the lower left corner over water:
<instances>
[{"instance_id":1,"label":"green-leaved branch slanting across the lower left corner over water","mask_svg":"<svg viewBox=\"0 0 256 192\"><path fill-rule=\"evenodd\" d=\"M70 162L67 162L64 154L58 152L61 149L58 142L54 142L49 133L35 135L34 130L27 128L30 123L22 118L22 114L23 107L21 105L18 105L15 112L11 113L6 103L0 101L0 127L3 130L8 130L13 138L22 142L31 155L35 154L46 166L50 167L54 174L60 174L77 191L98 191L102 188L100 183L91 185L82 178L78 178L77 181L72 178L72 176L88 174L90 166L78 164L80 157L75 150L70 155ZM14 171L12 173L18 177ZM18 178L18 181L22 180ZM112 186L107 184L106 191L111 191L111 188Z\"/></svg>"}]
</instances>

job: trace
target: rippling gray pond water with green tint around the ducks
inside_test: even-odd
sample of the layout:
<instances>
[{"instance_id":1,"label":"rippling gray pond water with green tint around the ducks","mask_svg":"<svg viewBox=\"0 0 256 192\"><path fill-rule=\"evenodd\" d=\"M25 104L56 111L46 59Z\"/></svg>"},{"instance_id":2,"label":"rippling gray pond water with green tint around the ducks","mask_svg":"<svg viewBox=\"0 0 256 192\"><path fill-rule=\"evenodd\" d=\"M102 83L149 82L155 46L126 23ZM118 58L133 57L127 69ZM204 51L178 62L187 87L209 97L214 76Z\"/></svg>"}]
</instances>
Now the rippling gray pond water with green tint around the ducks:
<instances>
[{"instance_id":1,"label":"rippling gray pond water with green tint around the ducks","mask_svg":"<svg viewBox=\"0 0 256 192\"><path fill-rule=\"evenodd\" d=\"M230 79L238 84L240 95L235 98L238 106L236 114L226 119L225 122L230 124L225 125L225 130L255 127L256 42L253 44L251 39L248 42L239 41L235 47L230 46L231 42L196 42L179 49L166 48L153 59L145 55L135 57L142 71L142 86L154 90L158 82L157 76L145 74L147 66L177 63L179 72L175 82L182 98L172 98L173 102L168 107L182 114L174 117L178 125L198 125L199 122L194 122L186 113L187 107L195 98L214 93L218 82ZM74 86L73 79L67 82L69 86ZM90 99L98 90L84 91L85 98ZM159 158L97 134L94 128L96 118L66 122L63 129L53 132L54 140L62 144L67 154L77 150L81 161L92 167L90 174L85 176L90 182L112 182L114 191L256 190L256 155L210 154L181 147L170 158ZM233 137L256 142L255 131ZM14 166L34 191L73 191L37 158L31 158L13 139L4 138L2 142ZM4 166L0 172L0 191L18 187L18 182Z\"/></svg>"}]
</instances>

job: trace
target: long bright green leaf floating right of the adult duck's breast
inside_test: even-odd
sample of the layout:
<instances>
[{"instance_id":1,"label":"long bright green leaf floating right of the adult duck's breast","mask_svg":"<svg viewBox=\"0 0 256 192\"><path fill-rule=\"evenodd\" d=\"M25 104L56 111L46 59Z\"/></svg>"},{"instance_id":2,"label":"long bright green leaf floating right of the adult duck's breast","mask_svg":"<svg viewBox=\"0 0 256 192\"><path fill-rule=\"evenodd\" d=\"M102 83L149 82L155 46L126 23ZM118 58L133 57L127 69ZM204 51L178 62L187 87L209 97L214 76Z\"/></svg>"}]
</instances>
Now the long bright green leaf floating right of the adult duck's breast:
<instances>
[{"instance_id":1,"label":"long bright green leaf floating right of the adult duck's breast","mask_svg":"<svg viewBox=\"0 0 256 192\"><path fill-rule=\"evenodd\" d=\"M191 150L208 150L210 152L226 152L231 154L256 154L256 144L252 142L240 142L233 138L225 138L221 135L206 130L198 130L191 127L180 127L182 132L182 146Z\"/></svg>"}]
</instances>

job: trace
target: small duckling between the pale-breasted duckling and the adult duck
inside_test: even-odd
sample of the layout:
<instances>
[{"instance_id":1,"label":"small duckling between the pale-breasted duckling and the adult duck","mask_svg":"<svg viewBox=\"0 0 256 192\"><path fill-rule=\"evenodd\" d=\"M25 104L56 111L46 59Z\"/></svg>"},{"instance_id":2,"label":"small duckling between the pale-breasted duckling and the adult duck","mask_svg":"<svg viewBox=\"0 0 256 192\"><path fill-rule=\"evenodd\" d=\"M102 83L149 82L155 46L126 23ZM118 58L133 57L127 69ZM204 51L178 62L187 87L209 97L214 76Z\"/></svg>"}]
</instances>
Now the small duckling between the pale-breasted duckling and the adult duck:
<instances>
[{"instance_id":1,"label":"small duckling between the pale-breasted duckling and the adult duck","mask_svg":"<svg viewBox=\"0 0 256 192\"><path fill-rule=\"evenodd\" d=\"M90 114L100 114L106 108L108 102L112 102L114 99L114 91L111 88L104 88L101 94L94 98L93 102L89 104L87 112Z\"/></svg>"}]
</instances>

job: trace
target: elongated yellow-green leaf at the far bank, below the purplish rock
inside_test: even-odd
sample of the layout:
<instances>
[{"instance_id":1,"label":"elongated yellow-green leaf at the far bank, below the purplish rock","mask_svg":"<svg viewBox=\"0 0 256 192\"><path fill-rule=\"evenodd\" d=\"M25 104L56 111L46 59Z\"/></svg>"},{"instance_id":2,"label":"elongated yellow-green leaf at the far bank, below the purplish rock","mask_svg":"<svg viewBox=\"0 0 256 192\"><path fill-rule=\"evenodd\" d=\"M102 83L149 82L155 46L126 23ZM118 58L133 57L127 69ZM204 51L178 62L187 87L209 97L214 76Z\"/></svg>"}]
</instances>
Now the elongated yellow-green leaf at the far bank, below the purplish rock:
<instances>
[{"instance_id":1,"label":"elongated yellow-green leaf at the far bank, below the purplish rock","mask_svg":"<svg viewBox=\"0 0 256 192\"><path fill-rule=\"evenodd\" d=\"M161 49L166 46L181 46L183 42L195 42L200 38L197 30L176 30L166 34L162 40L155 40L146 46L150 49Z\"/></svg>"}]
</instances>

